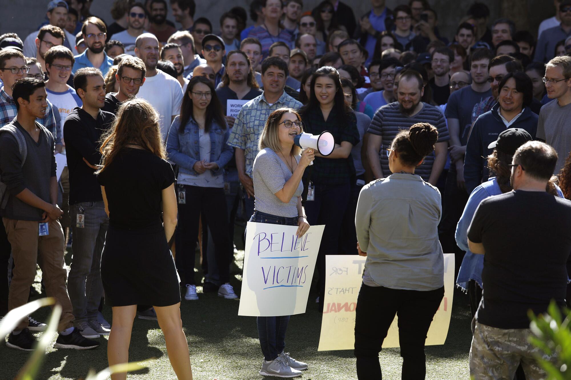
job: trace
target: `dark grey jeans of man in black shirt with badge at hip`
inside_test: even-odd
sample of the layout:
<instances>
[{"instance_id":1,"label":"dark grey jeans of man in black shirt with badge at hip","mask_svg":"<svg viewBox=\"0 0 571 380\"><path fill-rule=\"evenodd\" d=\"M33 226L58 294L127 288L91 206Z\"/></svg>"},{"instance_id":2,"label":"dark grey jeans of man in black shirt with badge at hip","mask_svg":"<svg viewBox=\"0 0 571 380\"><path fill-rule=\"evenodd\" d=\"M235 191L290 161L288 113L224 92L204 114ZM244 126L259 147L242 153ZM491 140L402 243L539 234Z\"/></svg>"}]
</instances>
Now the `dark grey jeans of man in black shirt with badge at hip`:
<instances>
[{"instance_id":1,"label":"dark grey jeans of man in black shirt with badge at hip","mask_svg":"<svg viewBox=\"0 0 571 380\"><path fill-rule=\"evenodd\" d=\"M80 208L85 213L83 228L76 227ZM70 217L73 257L67 277L67 292L73 305L75 321L81 323L97 317L103 296L99 269L109 218L105 213L103 201L70 205Z\"/></svg>"}]
</instances>

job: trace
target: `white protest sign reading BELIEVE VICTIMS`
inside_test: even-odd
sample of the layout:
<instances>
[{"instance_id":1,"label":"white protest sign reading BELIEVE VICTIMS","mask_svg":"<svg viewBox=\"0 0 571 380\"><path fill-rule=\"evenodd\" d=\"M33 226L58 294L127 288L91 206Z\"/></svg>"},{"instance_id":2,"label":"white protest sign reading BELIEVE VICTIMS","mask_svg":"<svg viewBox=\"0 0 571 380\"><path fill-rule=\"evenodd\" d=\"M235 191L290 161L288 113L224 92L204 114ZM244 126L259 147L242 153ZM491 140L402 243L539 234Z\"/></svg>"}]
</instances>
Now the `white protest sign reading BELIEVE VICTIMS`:
<instances>
[{"instance_id":1,"label":"white protest sign reading BELIEVE VICTIMS","mask_svg":"<svg viewBox=\"0 0 571 380\"><path fill-rule=\"evenodd\" d=\"M296 226L248 222L239 316L305 313L324 227L298 238Z\"/></svg>"}]
</instances>

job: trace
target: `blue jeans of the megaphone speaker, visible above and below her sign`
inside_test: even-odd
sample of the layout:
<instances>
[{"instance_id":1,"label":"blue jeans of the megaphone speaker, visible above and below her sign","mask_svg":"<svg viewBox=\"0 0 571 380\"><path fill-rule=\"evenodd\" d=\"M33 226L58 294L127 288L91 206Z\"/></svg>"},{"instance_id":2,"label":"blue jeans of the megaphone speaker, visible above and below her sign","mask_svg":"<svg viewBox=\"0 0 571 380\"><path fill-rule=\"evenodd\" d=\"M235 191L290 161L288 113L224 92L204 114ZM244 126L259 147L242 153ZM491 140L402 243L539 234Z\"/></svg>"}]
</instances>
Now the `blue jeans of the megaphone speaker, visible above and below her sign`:
<instances>
[{"instance_id":1,"label":"blue jeans of the megaphone speaker, visible above and below her sign","mask_svg":"<svg viewBox=\"0 0 571 380\"><path fill-rule=\"evenodd\" d=\"M255 211L250 221L256 223L271 223L280 225L297 225L297 218L270 215ZM278 357L286 347L286 330L289 316L282 317L258 317L258 337L264 359L268 362Z\"/></svg>"}]
</instances>

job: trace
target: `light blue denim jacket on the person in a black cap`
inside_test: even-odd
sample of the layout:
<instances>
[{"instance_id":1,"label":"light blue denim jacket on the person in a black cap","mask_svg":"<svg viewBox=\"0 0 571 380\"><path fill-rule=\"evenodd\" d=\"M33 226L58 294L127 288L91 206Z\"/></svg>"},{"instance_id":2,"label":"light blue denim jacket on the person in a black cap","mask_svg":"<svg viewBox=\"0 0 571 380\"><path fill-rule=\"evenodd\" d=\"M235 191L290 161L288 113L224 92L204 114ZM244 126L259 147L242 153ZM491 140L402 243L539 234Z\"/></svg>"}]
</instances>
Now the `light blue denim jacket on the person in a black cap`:
<instances>
[{"instance_id":1,"label":"light blue denim jacket on the person in a black cap","mask_svg":"<svg viewBox=\"0 0 571 380\"><path fill-rule=\"evenodd\" d=\"M498 185L496 177L491 177L487 182L476 187L468 198L468 203L456 226L456 244L460 249L466 251L458 272L458 278L456 279L456 285L460 286L463 290L468 289L468 282L470 280L476 281L478 285L480 285L480 288L483 289L482 269L484 269L484 255L470 252L468 248L468 227L470 223L472 223L472 218L481 201L487 197L500 195L501 193L500 185ZM557 196L560 198L563 197L563 193L558 187Z\"/></svg>"}]
</instances>

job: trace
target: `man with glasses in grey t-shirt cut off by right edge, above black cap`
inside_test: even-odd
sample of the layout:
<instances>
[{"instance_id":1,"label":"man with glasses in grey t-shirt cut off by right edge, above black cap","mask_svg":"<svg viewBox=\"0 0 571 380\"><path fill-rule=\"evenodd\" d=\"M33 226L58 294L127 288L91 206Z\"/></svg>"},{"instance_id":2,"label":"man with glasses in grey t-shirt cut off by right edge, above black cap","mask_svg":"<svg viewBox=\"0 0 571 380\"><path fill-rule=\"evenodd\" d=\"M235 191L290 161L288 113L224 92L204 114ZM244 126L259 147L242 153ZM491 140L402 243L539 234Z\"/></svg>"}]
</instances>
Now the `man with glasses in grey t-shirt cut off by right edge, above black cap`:
<instances>
[{"instance_id":1,"label":"man with glasses in grey t-shirt cut off by right edge, above black cap","mask_svg":"<svg viewBox=\"0 0 571 380\"><path fill-rule=\"evenodd\" d=\"M547 96L553 100L541 107L537 139L544 140L557 151L559 157L554 172L557 174L571 151L571 57L557 56L550 60L543 80Z\"/></svg>"}]
</instances>

